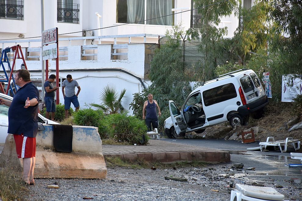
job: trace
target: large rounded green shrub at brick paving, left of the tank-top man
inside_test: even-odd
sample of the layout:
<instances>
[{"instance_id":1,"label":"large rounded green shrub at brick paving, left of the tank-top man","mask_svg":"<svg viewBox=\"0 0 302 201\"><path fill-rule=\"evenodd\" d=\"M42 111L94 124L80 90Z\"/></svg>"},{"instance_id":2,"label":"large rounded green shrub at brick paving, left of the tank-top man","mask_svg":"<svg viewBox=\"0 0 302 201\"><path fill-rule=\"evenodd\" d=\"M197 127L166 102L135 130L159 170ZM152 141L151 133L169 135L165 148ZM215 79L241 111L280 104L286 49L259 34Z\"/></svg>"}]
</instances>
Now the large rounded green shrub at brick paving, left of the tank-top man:
<instances>
[{"instance_id":1,"label":"large rounded green shrub at brick paving, left of the tank-top man","mask_svg":"<svg viewBox=\"0 0 302 201\"><path fill-rule=\"evenodd\" d=\"M142 135L146 134L147 127L143 120L139 120L134 116L123 114L111 114L104 118L101 123L103 131L109 138L113 138L118 142L128 142L129 144L141 144ZM149 136L145 135L145 142L148 143Z\"/></svg>"}]
</instances>

